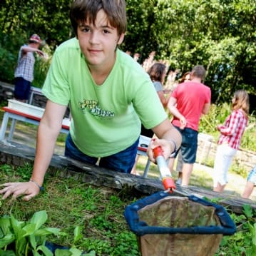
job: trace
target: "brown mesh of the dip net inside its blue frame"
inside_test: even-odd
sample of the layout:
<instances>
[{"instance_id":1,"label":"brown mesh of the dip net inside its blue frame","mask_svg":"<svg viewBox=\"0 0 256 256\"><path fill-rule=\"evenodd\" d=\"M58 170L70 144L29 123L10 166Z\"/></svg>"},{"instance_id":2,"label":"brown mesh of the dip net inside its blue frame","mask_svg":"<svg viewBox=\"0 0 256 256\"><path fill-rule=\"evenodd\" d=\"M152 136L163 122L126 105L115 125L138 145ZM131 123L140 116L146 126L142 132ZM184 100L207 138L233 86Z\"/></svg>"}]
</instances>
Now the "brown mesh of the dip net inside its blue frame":
<instances>
[{"instance_id":1,"label":"brown mesh of the dip net inside its blue frame","mask_svg":"<svg viewBox=\"0 0 256 256\"><path fill-rule=\"evenodd\" d=\"M215 208L183 197L166 197L138 210L140 221L157 227L219 226ZM138 236L140 252L146 255L214 255L222 234L146 234Z\"/></svg>"}]
</instances>

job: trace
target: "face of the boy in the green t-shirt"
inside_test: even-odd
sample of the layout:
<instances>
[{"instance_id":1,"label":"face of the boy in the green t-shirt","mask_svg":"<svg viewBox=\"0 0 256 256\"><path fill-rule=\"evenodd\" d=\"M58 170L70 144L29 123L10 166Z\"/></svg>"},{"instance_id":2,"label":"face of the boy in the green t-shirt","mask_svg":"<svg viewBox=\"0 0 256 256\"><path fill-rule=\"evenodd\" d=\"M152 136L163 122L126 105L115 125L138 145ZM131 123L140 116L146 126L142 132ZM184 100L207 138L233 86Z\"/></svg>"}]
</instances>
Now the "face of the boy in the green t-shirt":
<instances>
[{"instance_id":1,"label":"face of the boy in the green t-shirt","mask_svg":"<svg viewBox=\"0 0 256 256\"><path fill-rule=\"evenodd\" d=\"M103 10L98 11L95 25L86 21L78 24L78 41L89 66L113 66L116 60L116 46L122 43L124 34L118 35L111 27Z\"/></svg>"}]
</instances>

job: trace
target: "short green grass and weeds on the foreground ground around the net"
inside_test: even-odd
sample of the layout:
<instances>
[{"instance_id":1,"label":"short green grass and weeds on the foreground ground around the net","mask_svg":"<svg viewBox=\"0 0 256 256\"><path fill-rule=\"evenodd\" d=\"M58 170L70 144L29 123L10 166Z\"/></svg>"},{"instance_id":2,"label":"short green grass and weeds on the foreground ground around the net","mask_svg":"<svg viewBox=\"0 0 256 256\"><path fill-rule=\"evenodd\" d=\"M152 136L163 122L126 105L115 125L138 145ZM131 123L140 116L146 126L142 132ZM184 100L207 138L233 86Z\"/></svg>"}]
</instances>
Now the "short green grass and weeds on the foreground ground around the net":
<instances>
[{"instance_id":1,"label":"short green grass and weeds on the foreground ground around the net","mask_svg":"<svg viewBox=\"0 0 256 256\"><path fill-rule=\"evenodd\" d=\"M0 166L1 183L29 180L32 166ZM150 170L150 175L158 173ZM200 181L198 181L200 182ZM138 198L128 190L99 188L73 178L46 175L45 192L29 202L21 198L0 200L0 216L14 215L17 220L29 220L34 213L46 210L45 227L60 228L63 235L51 235L48 240L58 245L76 246L84 252L95 251L98 256L140 255L137 237L128 228L123 212L126 205ZM217 203L217 202L215 202ZM225 236L215 256L253 255L256 214L247 208L246 214L230 213L239 227L235 235ZM81 237L73 241L75 227L81 228ZM247 252L247 254L242 254Z\"/></svg>"}]
</instances>

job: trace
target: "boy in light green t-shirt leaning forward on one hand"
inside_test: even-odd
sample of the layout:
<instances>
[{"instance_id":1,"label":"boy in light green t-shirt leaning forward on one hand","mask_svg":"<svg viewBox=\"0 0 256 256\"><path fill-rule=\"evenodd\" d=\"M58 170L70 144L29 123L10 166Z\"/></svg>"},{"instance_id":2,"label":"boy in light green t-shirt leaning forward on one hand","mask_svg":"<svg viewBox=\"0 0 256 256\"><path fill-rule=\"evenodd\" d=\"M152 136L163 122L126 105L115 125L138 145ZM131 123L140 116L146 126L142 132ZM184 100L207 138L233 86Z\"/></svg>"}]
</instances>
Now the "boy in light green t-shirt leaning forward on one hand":
<instances>
[{"instance_id":1,"label":"boy in light green t-shirt leaning forward on one hand","mask_svg":"<svg viewBox=\"0 0 256 256\"><path fill-rule=\"evenodd\" d=\"M73 1L70 19L76 33L58 46L43 85L48 98L41 119L31 180L5 183L3 198L39 193L53 155L66 108L71 108L65 155L103 168L130 173L135 162L141 122L152 128L165 158L180 147L180 133L166 115L143 68L118 49L126 33L124 0Z\"/></svg>"}]
</instances>

